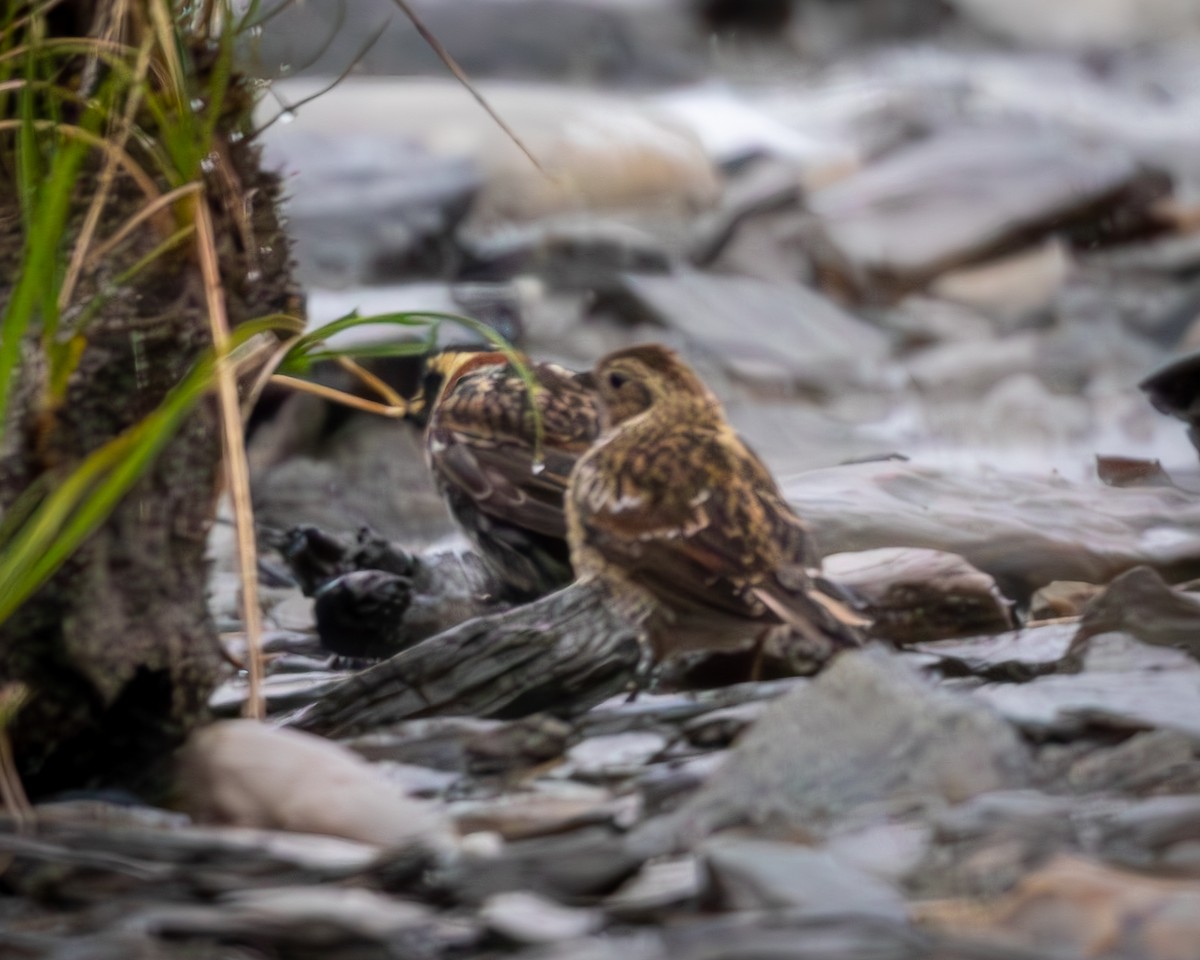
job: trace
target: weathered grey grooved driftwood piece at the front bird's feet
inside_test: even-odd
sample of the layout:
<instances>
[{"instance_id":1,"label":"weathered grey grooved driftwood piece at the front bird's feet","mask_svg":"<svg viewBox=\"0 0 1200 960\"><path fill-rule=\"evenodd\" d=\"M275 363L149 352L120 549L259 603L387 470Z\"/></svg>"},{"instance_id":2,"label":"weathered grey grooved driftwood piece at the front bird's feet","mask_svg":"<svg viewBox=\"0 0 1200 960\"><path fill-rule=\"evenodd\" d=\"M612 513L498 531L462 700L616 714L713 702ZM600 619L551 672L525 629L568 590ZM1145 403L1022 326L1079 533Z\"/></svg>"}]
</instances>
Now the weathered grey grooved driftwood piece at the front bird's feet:
<instances>
[{"instance_id":1,"label":"weathered grey grooved driftwood piece at the front bird's feet","mask_svg":"<svg viewBox=\"0 0 1200 960\"><path fill-rule=\"evenodd\" d=\"M641 659L607 593L572 583L478 617L331 688L293 722L328 736L434 714L574 714L619 692Z\"/></svg>"}]
</instances>

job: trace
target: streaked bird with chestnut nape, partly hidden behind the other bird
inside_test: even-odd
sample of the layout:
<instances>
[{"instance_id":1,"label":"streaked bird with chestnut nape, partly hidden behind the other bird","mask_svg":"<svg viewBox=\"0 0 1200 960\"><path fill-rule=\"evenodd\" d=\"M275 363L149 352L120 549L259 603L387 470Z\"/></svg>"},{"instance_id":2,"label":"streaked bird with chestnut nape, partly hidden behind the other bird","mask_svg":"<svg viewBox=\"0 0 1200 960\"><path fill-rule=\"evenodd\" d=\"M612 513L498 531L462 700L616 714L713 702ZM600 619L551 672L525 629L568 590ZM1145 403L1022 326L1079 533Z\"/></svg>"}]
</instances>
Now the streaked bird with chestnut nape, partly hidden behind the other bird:
<instances>
[{"instance_id":1,"label":"streaked bird with chestnut nape, partly hidden behind the other bird","mask_svg":"<svg viewBox=\"0 0 1200 960\"><path fill-rule=\"evenodd\" d=\"M500 352L448 349L425 361L410 418L450 512L514 598L570 583L563 497L576 458L599 433L590 373L530 364L541 461L528 391Z\"/></svg>"}]
</instances>

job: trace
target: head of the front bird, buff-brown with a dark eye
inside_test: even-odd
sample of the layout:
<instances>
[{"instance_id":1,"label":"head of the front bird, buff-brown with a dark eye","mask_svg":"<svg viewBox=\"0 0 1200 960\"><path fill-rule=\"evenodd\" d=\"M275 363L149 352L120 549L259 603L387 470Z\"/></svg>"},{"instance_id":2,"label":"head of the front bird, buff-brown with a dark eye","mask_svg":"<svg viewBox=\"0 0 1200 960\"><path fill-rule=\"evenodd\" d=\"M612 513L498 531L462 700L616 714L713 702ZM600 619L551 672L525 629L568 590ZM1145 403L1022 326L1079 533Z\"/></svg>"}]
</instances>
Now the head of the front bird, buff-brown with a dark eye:
<instances>
[{"instance_id":1,"label":"head of the front bird, buff-brown with a dark eye","mask_svg":"<svg viewBox=\"0 0 1200 960\"><path fill-rule=\"evenodd\" d=\"M644 343L611 353L596 364L606 426L624 424L650 408L716 408L716 397L674 350Z\"/></svg>"}]
</instances>

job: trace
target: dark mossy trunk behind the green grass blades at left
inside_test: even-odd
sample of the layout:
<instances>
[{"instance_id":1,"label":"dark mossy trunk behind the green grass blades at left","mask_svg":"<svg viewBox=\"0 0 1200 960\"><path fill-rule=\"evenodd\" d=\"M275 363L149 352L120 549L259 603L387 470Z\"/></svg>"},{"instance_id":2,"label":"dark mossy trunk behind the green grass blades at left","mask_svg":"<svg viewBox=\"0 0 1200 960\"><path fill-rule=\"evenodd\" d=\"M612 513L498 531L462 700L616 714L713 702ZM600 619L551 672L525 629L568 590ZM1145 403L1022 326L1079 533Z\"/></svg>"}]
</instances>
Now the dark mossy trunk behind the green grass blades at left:
<instances>
[{"instance_id":1,"label":"dark mossy trunk behind the green grass blades at left","mask_svg":"<svg viewBox=\"0 0 1200 960\"><path fill-rule=\"evenodd\" d=\"M70 31L83 24L95 32L104 6L65 4L49 28ZM136 36L151 23L149 2L130 7ZM210 54L184 46L193 62ZM86 71L79 74L79 83L86 83ZM278 184L242 138L250 97L238 78L226 102L230 106L217 122L214 162L205 164L211 169L204 202L216 223L233 326L294 311L296 301L276 212ZM152 130L151 119L146 127ZM24 244L11 163L14 144L14 136L0 139L0 265L16 264ZM85 163L68 239L78 234L98 190L102 164L100 151ZM156 186L163 193L172 187ZM113 236L145 203L144 191L119 174L97 238ZM179 208L175 214L178 223ZM84 271L72 302L86 304L112 290L162 240L155 220L145 221ZM14 282L12 270L0 270L0 300L11 295ZM24 344L0 442L0 514L8 514L31 486L59 482L85 455L158 407L211 346L194 240L118 284L88 325L85 341L66 401L49 409L42 400L44 365L36 331ZM222 668L205 598L205 544L220 487L221 425L209 397L103 527L0 625L0 680L20 680L30 692L10 734L32 796L112 784L148 787L154 761L203 720Z\"/></svg>"}]
</instances>

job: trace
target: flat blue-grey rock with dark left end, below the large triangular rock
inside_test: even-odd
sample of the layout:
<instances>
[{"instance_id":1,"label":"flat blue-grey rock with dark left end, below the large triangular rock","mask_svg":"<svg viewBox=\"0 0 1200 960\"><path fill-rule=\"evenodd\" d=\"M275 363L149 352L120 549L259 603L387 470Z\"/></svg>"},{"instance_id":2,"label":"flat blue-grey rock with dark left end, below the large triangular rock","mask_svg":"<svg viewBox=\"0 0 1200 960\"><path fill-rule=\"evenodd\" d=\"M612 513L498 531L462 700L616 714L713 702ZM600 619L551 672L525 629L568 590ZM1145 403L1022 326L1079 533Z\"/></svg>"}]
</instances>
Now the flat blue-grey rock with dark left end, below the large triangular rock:
<instances>
[{"instance_id":1,"label":"flat blue-grey rock with dark left end, below the large triangular rock","mask_svg":"<svg viewBox=\"0 0 1200 960\"><path fill-rule=\"evenodd\" d=\"M701 847L706 898L725 910L787 910L805 916L865 914L904 920L904 898L889 883L823 850L715 838Z\"/></svg>"}]
</instances>

